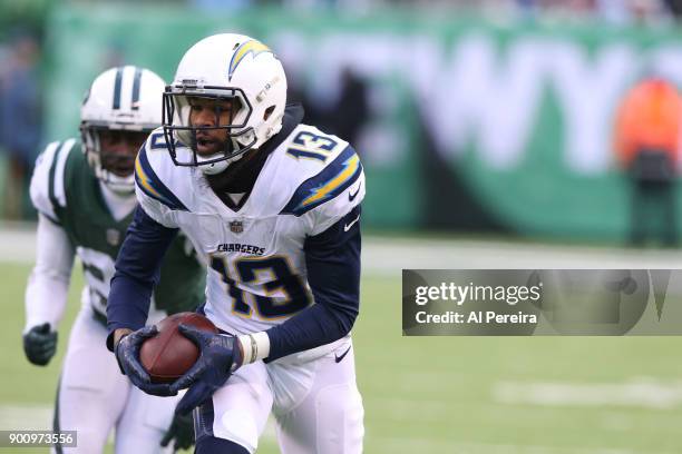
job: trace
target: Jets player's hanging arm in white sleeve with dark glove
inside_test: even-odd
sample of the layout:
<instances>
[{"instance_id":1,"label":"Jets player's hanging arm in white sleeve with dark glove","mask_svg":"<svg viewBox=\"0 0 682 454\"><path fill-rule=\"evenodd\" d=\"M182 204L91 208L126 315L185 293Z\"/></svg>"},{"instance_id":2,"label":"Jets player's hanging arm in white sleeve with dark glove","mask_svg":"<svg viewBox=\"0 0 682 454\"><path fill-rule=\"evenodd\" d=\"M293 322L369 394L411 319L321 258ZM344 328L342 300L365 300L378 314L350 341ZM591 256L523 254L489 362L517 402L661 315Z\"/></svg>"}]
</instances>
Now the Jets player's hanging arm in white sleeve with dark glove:
<instances>
[{"instance_id":1,"label":"Jets player's hanging arm in white sleeve with dark glove","mask_svg":"<svg viewBox=\"0 0 682 454\"><path fill-rule=\"evenodd\" d=\"M36 241L36 266L26 288L23 352L31 363L45 366L57 351L75 253L61 226L42 214Z\"/></svg>"}]
</instances>

